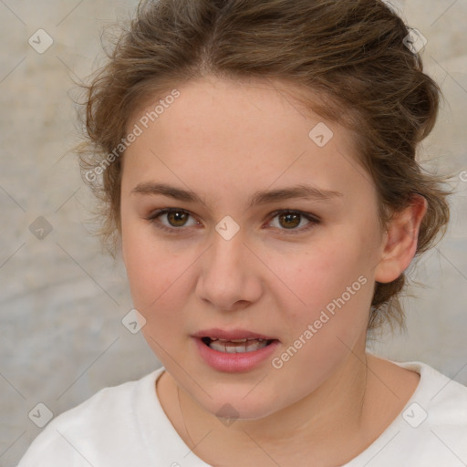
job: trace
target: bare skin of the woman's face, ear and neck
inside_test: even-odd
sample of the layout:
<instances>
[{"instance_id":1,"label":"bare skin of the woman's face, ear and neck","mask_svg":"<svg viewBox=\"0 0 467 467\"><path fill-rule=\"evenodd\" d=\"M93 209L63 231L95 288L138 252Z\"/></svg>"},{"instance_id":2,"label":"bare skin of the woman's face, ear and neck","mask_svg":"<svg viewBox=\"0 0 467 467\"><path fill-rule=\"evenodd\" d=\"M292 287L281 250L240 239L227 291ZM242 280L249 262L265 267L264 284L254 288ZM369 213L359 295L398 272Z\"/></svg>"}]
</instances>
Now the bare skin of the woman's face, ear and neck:
<instances>
[{"instance_id":1,"label":"bare skin of the woman's face, ear and neck","mask_svg":"<svg viewBox=\"0 0 467 467\"><path fill-rule=\"evenodd\" d=\"M126 151L121 182L122 257L146 319L142 333L167 369L155 388L162 408L212 465L348 462L397 417L419 382L368 355L365 344L373 285L410 265L426 202L414 198L381 229L377 192L358 165L352 134L325 122L334 136L318 147L308 133L324 120L299 108L286 94L293 88L203 78L178 89L180 98ZM132 192L142 182L190 189L201 202ZM341 195L248 208L255 192L298 184ZM164 208L191 216L147 219ZM320 222L281 221L275 211L285 209ZM231 240L215 230L226 215L240 227ZM278 357L359 276L366 285L280 369L268 358L225 373L197 353L193 333L241 327L279 339ZM238 416L230 424L215 415L225 403Z\"/></svg>"}]
</instances>

